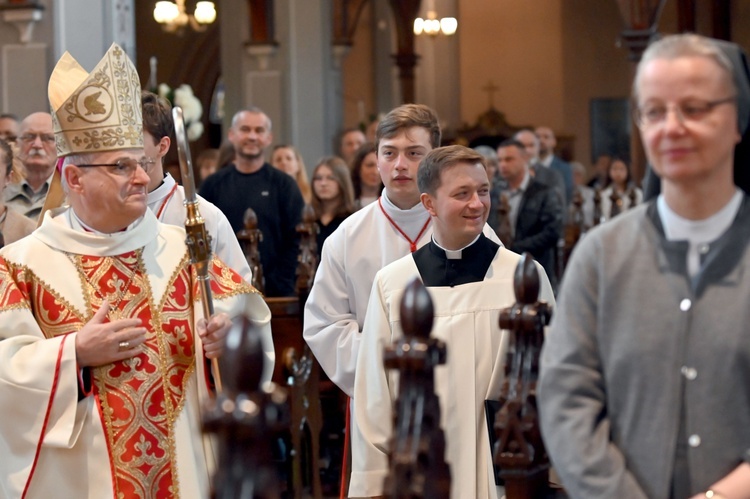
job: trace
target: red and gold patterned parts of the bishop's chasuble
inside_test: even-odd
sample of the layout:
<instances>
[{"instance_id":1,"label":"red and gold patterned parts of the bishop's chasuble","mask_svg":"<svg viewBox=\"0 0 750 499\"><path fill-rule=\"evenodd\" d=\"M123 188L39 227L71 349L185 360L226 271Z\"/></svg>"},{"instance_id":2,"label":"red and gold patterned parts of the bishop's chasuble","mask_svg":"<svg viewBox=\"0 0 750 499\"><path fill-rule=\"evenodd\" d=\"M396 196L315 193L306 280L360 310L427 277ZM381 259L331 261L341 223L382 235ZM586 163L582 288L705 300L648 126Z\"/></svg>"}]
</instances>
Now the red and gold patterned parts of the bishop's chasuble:
<instances>
[{"instance_id":1,"label":"red and gold patterned parts of the bishop's chasuble","mask_svg":"<svg viewBox=\"0 0 750 499\"><path fill-rule=\"evenodd\" d=\"M0 258L0 311L29 307L46 338L78 331L104 300L108 320L139 318L147 328L142 352L90 370L92 396L104 425L114 497L179 497L174 423L195 370L193 306L199 287L187 255L154 302L141 250L117 256L67 254L75 265L87 304L86 316L26 266ZM216 299L253 292L218 259L211 266ZM203 360L202 352L198 358ZM85 374L84 374L85 375Z\"/></svg>"}]
</instances>

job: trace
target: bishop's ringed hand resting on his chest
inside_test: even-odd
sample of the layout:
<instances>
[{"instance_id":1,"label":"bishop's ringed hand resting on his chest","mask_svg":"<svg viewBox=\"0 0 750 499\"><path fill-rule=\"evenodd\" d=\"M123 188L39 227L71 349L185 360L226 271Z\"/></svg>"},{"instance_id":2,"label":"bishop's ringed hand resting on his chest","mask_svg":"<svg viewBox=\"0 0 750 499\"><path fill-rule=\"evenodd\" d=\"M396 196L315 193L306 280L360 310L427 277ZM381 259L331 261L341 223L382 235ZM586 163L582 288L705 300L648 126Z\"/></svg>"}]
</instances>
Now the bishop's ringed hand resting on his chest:
<instances>
[{"instance_id":1,"label":"bishop's ringed hand resting on his chest","mask_svg":"<svg viewBox=\"0 0 750 499\"><path fill-rule=\"evenodd\" d=\"M147 330L140 319L105 322L109 302L105 301L94 317L76 334L78 367L97 367L129 359L141 352Z\"/></svg>"}]
</instances>

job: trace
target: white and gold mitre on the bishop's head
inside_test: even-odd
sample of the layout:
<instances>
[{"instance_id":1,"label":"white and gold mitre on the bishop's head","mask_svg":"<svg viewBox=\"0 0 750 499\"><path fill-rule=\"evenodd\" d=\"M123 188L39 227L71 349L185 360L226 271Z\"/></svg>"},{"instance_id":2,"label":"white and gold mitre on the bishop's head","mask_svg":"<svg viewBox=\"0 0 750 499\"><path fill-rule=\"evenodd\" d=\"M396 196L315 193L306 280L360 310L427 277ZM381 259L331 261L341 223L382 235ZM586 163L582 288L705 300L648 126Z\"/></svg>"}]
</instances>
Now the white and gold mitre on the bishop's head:
<instances>
[{"instance_id":1,"label":"white and gold mitre on the bishop's head","mask_svg":"<svg viewBox=\"0 0 750 499\"><path fill-rule=\"evenodd\" d=\"M116 43L90 74L65 52L47 93L58 157L143 147L141 83Z\"/></svg>"}]
</instances>

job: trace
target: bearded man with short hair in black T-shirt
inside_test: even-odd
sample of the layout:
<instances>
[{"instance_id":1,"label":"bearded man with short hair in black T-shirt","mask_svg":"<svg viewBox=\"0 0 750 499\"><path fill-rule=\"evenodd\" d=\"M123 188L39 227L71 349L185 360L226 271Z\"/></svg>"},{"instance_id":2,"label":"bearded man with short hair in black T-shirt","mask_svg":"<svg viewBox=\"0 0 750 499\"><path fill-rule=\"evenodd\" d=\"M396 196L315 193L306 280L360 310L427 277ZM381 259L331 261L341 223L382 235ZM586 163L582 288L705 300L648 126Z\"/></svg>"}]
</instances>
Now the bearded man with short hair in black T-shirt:
<instances>
[{"instance_id":1,"label":"bearded man with short hair in black T-shirt","mask_svg":"<svg viewBox=\"0 0 750 499\"><path fill-rule=\"evenodd\" d=\"M266 296L294 295L299 239L295 227L302 218L304 201L297 183L266 163L271 144L271 119L257 107L239 111L232 118L229 142L235 160L208 177L200 194L229 219L236 233L243 228L245 211L258 216L260 260Z\"/></svg>"}]
</instances>

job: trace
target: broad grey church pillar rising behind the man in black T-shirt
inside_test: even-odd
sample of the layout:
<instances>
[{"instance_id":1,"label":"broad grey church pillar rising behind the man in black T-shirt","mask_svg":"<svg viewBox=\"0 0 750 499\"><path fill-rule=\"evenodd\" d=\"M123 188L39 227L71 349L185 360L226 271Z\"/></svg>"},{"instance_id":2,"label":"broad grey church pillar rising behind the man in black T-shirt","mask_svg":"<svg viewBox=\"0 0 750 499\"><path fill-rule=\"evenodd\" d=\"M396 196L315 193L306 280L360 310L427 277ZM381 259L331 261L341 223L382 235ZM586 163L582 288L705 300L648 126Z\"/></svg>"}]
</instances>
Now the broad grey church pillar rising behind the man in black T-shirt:
<instances>
[{"instance_id":1,"label":"broad grey church pillar rising behind the man in black T-shirt","mask_svg":"<svg viewBox=\"0 0 750 499\"><path fill-rule=\"evenodd\" d=\"M342 122L341 75L332 57L331 0L274 1L267 13L274 23L269 31L274 38L266 42L252 33L256 21L252 26L248 22L253 14L249 3L227 0L220 9L224 129L229 129L237 111L260 107L273 122L274 144L297 147L311 169L314 161L330 153L331 138Z\"/></svg>"}]
</instances>

